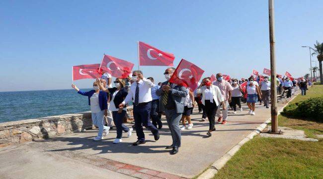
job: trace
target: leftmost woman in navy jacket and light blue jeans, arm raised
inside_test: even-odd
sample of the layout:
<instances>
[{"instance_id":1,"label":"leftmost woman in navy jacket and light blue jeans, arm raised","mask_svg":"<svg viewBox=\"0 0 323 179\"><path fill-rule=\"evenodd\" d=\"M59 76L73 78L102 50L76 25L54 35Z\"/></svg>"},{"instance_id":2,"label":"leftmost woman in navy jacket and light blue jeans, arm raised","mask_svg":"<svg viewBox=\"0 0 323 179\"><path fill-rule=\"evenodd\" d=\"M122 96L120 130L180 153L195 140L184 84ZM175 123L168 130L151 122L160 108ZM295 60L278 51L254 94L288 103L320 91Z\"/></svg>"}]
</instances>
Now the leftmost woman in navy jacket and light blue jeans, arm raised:
<instances>
[{"instance_id":1,"label":"leftmost woman in navy jacket and light blue jeans, arm raised","mask_svg":"<svg viewBox=\"0 0 323 179\"><path fill-rule=\"evenodd\" d=\"M100 82L100 81L99 81ZM109 133L109 127L103 125L104 116L108 115L108 101L107 93L101 91L98 87L98 83L93 83L93 89L89 91L82 91L76 85L72 84L72 88L78 91L79 94L88 97L88 105L91 106L92 124L99 128L97 136L93 139L99 141L103 139L103 132L105 135Z\"/></svg>"}]
</instances>

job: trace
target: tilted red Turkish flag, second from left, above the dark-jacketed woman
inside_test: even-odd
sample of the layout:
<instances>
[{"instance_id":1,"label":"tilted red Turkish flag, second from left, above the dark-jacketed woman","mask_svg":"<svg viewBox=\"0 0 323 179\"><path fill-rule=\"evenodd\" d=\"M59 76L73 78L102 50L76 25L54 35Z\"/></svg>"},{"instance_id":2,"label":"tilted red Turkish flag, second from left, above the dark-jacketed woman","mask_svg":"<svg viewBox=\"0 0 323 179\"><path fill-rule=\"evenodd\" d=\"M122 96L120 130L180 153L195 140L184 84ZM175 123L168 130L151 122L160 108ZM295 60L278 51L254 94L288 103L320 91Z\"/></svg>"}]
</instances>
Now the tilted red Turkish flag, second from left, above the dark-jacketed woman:
<instances>
[{"instance_id":1,"label":"tilted red Turkish flag, second from left, above the dark-jacketed woman","mask_svg":"<svg viewBox=\"0 0 323 179\"><path fill-rule=\"evenodd\" d=\"M115 78L127 78L133 67L133 63L109 55L104 55L101 62L103 73L108 72Z\"/></svg>"}]
</instances>

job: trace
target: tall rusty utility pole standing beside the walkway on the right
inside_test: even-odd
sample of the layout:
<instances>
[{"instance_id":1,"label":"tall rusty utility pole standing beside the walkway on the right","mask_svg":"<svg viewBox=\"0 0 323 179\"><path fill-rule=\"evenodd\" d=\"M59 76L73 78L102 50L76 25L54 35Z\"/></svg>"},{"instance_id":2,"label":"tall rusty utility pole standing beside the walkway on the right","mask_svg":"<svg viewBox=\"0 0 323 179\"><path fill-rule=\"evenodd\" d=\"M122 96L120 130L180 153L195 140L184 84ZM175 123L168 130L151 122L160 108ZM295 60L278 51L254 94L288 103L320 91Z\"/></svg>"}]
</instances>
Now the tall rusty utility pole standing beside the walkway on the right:
<instances>
[{"instance_id":1,"label":"tall rusty utility pole standing beside the walkway on the right","mask_svg":"<svg viewBox=\"0 0 323 179\"><path fill-rule=\"evenodd\" d=\"M269 42L270 42L270 99L271 99L271 132L278 132L277 89L276 89L276 58L275 58L275 17L274 0L269 0Z\"/></svg>"}]
</instances>

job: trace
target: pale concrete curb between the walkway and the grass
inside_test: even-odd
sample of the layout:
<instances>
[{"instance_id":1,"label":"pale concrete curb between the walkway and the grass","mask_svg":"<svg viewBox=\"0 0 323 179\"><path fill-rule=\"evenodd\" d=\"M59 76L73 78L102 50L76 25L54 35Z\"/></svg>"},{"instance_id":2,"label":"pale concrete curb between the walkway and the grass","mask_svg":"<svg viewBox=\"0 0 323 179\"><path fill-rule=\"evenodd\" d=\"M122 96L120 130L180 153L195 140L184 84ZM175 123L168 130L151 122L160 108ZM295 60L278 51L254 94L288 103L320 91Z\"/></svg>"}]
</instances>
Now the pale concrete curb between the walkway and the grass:
<instances>
[{"instance_id":1,"label":"pale concrete curb between the walkway and the grass","mask_svg":"<svg viewBox=\"0 0 323 179\"><path fill-rule=\"evenodd\" d=\"M300 94L300 93L298 93ZM298 94L293 96L282 108L277 111L277 115L279 115L284 108L292 101ZM255 130L250 132L245 138L243 138L237 145L235 145L232 149L230 149L226 154L224 154L220 159L214 162L211 167L203 172L197 179L212 179L218 173L218 171L226 165L226 163L239 151L243 144L251 140L254 136L258 135L262 132L267 125L271 122L271 117L269 117L264 123L260 124Z\"/></svg>"}]
</instances>

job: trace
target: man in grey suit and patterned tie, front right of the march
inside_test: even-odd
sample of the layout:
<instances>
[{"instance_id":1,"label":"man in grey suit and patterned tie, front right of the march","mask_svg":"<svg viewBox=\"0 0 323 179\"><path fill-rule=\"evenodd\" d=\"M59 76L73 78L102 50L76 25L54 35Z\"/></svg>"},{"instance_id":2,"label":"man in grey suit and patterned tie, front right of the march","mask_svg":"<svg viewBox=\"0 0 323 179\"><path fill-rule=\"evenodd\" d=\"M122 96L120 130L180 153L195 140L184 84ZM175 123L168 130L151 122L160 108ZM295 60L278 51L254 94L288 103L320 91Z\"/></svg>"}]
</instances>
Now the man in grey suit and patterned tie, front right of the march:
<instances>
[{"instance_id":1,"label":"man in grey suit and patterned tie, front right of the march","mask_svg":"<svg viewBox=\"0 0 323 179\"><path fill-rule=\"evenodd\" d=\"M182 118L184 111L183 97L187 96L187 90L185 87L169 83L168 80L173 75L175 68L167 68L165 70L166 82L161 84L161 88L156 91L156 94L160 96L160 111L164 111L166 115L167 124L173 140L172 145L166 147L166 149L172 149L170 154L177 154L178 147L180 147L180 130L179 121Z\"/></svg>"}]
</instances>

